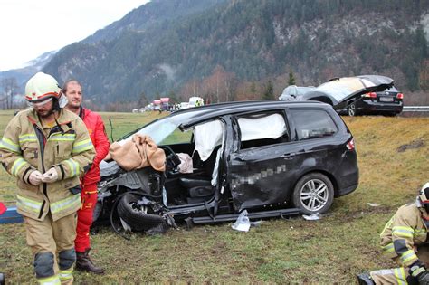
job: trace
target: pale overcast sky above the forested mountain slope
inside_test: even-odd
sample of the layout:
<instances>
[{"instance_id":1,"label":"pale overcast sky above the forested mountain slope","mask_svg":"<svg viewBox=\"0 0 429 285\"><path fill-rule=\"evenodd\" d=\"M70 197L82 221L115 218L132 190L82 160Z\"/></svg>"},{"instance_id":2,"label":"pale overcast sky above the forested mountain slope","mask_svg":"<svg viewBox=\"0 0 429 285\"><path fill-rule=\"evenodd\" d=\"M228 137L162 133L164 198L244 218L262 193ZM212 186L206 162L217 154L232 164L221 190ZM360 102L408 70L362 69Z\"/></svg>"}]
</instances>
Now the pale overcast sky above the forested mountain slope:
<instances>
[{"instance_id":1,"label":"pale overcast sky above the forested mountain slope","mask_svg":"<svg viewBox=\"0 0 429 285\"><path fill-rule=\"evenodd\" d=\"M79 42L148 0L0 0L0 71Z\"/></svg>"}]
</instances>

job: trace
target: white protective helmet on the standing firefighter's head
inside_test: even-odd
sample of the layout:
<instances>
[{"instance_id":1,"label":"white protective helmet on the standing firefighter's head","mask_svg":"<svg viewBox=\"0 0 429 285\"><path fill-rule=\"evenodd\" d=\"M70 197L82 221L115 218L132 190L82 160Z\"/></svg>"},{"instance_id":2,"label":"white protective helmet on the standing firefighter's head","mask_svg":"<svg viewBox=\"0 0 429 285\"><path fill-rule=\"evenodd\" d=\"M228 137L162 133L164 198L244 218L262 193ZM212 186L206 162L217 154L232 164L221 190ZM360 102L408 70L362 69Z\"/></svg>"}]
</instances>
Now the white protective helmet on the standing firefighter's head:
<instances>
[{"instance_id":1,"label":"white protective helmet on the standing firefighter's head","mask_svg":"<svg viewBox=\"0 0 429 285\"><path fill-rule=\"evenodd\" d=\"M60 99L62 89L49 74L37 72L25 85L25 100L37 103L47 98Z\"/></svg>"}]
</instances>

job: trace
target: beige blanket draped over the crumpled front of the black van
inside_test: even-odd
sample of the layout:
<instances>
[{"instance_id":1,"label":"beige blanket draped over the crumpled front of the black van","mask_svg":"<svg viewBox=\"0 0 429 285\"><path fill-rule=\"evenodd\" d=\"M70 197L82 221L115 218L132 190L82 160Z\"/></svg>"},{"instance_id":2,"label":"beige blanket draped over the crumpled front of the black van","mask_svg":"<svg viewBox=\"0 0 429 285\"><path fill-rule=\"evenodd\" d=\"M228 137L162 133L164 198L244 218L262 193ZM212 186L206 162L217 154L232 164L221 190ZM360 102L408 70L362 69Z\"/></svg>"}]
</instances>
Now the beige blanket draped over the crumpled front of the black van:
<instances>
[{"instance_id":1,"label":"beige blanket draped over the crumpled front of the black van","mask_svg":"<svg viewBox=\"0 0 429 285\"><path fill-rule=\"evenodd\" d=\"M106 157L108 158L108 157ZM152 166L157 171L166 169L166 154L152 138L144 135L134 135L124 145L114 142L109 148L109 158L114 159L125 170L139 169Z\"/></svg>"}]
</instances>

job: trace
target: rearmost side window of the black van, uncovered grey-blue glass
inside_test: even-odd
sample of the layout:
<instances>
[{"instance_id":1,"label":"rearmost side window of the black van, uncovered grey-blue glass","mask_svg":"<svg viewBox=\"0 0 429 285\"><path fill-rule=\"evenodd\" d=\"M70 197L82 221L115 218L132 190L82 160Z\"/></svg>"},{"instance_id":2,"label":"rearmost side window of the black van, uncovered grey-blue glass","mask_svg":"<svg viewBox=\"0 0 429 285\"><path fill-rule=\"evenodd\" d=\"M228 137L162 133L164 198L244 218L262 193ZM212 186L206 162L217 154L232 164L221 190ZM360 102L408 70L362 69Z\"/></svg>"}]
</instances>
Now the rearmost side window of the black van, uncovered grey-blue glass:
<instances>
[{"instance_id":1,"label":"rearmost side window of the black van, uncovered grey-blue glass","mask_svg":"<svg viewBox=\"0 0 429 285\"><path fill-rule=\"evenodd\" d=\"M296 109L291 111L297 138L329 137L338 131L332 118L324 110Z\"/></svg>"}]
</instances>

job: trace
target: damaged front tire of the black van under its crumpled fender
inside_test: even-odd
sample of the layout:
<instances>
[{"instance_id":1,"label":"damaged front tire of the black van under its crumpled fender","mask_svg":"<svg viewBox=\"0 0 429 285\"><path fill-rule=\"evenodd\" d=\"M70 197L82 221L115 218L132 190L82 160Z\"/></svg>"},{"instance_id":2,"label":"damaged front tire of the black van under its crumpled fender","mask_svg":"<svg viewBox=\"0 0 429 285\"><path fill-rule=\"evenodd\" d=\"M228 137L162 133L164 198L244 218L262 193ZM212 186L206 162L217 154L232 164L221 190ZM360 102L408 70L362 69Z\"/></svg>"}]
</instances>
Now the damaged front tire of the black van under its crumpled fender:
<instances>
[{"instance_id":1,"label":"damaged front tire of the black van under its crumpled fender","mask_svg":"<svg viewBox=\"0 0 429 285\"><path fill-rule=\"evenodd\" d=\"M160 215L148 214L148 209L145 211L142 205L137 205L140 197L140 195L132 193L123 195L118 203L119 217L138 232L148 231L160 223L166 223Z\"/></svg>"}]
</instances>

